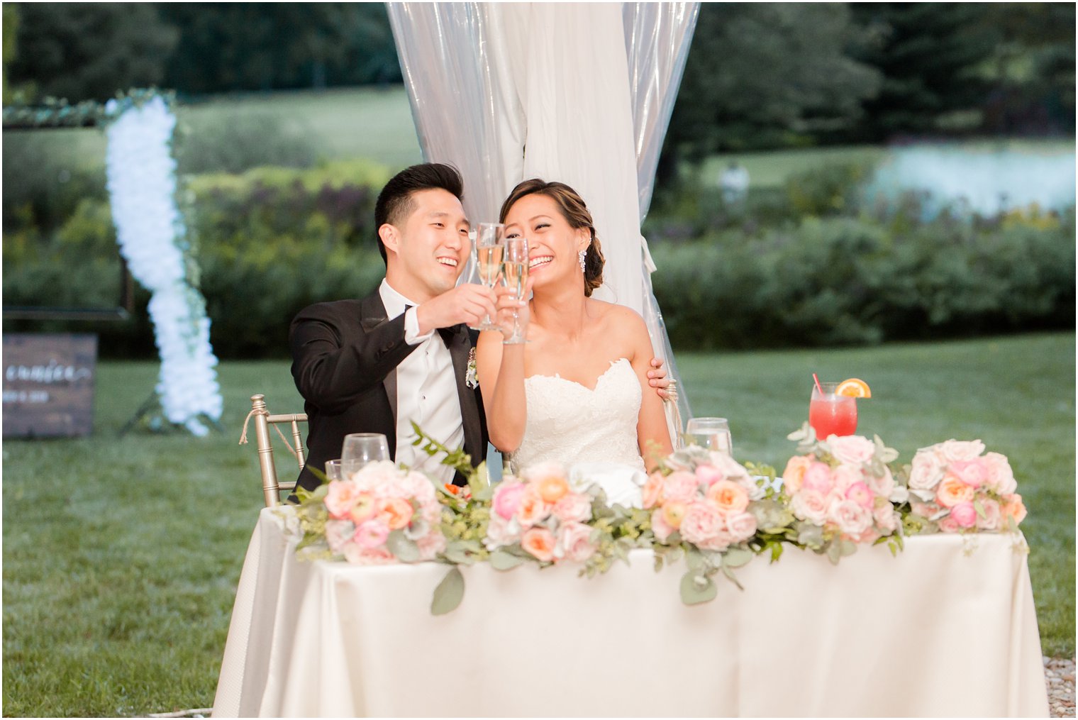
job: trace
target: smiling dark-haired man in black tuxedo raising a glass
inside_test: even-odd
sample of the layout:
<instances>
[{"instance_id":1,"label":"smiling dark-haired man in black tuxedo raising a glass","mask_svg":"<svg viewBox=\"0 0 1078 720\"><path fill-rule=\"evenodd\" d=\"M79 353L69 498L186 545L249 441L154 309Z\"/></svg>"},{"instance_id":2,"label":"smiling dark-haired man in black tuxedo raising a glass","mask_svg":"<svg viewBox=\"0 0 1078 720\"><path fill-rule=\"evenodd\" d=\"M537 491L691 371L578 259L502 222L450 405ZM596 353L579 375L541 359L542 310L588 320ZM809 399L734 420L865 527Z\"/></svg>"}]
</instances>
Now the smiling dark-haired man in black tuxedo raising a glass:
<instances>
[{"instance_id":1,"label":"smiling dark-haired man in black tuxedo raising a glass","mask_svg":"<svg viewBox=\"0 0 1078 720\"><path fill-rule=\"evenodd\" d=\"M309 469L340 457L351 432L379 432L393 461L426 460L423 469L439 482L464 484L412 445L412 420L446 447L462 446L473 465L484 459L486 419L468 372L478 332L468 326L496 315L495 292L457 285L471 249L462 195L460 175L448 165L413 165L393 176L374 207L386 263L378 289L362 300L312 305L292 320L292 377L308 423L298 487L318 487ZM672 397L661 364L652 360L650 383Z\"/></svg>"}]
</instances>

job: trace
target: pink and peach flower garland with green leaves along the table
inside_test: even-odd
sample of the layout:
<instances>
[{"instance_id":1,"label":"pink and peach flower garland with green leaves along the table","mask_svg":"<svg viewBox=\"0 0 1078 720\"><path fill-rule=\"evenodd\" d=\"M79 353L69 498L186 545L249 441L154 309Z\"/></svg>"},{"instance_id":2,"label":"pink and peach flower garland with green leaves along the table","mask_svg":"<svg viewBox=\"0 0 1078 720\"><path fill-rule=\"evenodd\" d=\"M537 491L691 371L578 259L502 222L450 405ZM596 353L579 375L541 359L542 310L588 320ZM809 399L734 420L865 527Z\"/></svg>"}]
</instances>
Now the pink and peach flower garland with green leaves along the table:
<instances>
[{"instance_id":1,"label":"pink and peach flower garland with green leaves along the table","mask_svg":"<svg viewBox=\"0 0 1078 720\"><path fill-rule=\"evenodd\" d=\"M648 476L642 508L625 508L551 462L492 487L485 463L472 468L462 451L413 427L415 444L429 455L444 453L442 462L464 472L468 485L439 486L375 462L313 493L298 488L299 552L357 564L450 565L434 590L434 614L462 600L459 566L480 562L496 570L571 564L593 577L618 560L627 564L633 549L650 549L657 571L685 560L681 599L695 605L717 595L717 573L741 587L734 570L761 554L776 562L786 545L837 564L863 544L886 542L897 554L904 534L1015 531L1025 516L1007 459L982 457L980 441L934 445L918 451L912 466L893 470L898 453L880 438L819 441L805 424L789 435L799 454L782 481L772 468L690 446Z\"/></svg>"}]
</instances>

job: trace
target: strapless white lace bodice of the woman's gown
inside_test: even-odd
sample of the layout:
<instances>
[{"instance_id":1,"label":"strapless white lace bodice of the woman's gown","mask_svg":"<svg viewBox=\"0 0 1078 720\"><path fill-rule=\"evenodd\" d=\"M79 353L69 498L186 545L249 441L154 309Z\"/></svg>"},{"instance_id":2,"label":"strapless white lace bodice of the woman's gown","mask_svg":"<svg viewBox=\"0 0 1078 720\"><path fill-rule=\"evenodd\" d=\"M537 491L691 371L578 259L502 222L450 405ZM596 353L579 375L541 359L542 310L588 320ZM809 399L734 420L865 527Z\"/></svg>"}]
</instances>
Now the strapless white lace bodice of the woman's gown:
<instances>
[{"instance_id":1,"label":"strapless white lace bodice of the woman's gown","mask_svg":"<svg viewBox=\"0 0 1078 720\"><path fill-rule=\"evenodd\" d=\"M544 460L644 470L636 438L640 380L625 358L610 363L594 390L558 375L533 375L525 378L524 391L528 419L510 458L514 471Z\"/></svg>"}]
</instances>

